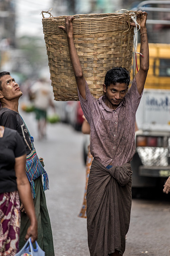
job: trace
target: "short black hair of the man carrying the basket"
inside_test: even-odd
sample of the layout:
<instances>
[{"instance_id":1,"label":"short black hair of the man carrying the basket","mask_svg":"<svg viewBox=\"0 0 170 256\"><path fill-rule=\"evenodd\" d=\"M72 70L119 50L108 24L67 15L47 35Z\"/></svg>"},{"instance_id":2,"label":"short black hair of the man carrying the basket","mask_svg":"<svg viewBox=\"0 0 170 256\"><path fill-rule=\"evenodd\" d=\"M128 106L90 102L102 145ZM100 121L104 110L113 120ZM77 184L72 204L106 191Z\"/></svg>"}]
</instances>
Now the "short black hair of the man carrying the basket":
<instances>
[{"instance_id":1,"label":"short black hair of the man carrying the basket","mask_svg":"<svg viewBox=\"0 0 170 256\"><path fill-rule=\"evenodd\" d=\"M106 89L111 83L115 85L117 82L129 85L130 75L125 67L113 67L107 71L104 80Z\"/></svg>"}]
</instances>

